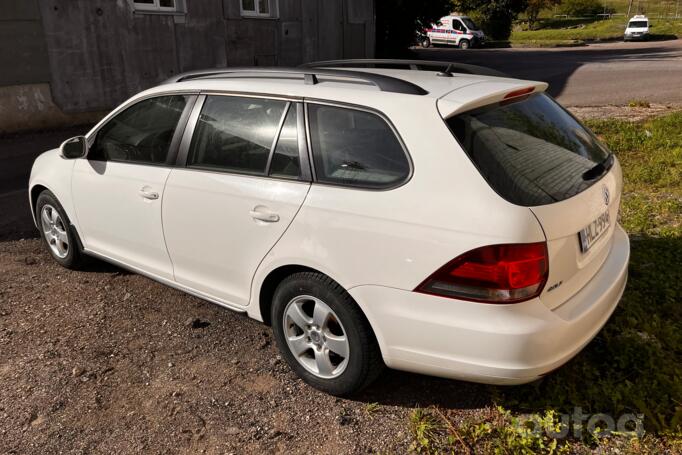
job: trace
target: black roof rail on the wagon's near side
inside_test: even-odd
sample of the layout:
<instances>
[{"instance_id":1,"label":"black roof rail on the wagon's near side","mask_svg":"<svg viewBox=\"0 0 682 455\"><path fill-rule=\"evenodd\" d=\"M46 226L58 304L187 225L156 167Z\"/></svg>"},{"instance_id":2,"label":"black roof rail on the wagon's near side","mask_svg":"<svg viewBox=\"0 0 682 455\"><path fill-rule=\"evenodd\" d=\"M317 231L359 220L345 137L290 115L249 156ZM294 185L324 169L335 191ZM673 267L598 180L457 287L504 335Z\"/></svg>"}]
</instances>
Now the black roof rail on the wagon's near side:
<instances>
[{"instance_id":1,"label":"black roof rail on the wagon's near side","mask_svg":"<svg viewBox=\"0 0 682 455\"><path fill-rule=\"evenodd\" d=\"M188 81L204 78L240 78L252 77L287 77L287 75L301 75L306 84L319 83L318 77L340 77L355 79L375 85L382 92L405 93L409 95L426 95L428 92L412 82L404 81L396 77L383 74L367 73L362 71L332 70L332 69L307 69L307 68L284 68L284 67L244 67L244 68L214 68L178 74L164 84Z\"/></svg>"}]
</instances>

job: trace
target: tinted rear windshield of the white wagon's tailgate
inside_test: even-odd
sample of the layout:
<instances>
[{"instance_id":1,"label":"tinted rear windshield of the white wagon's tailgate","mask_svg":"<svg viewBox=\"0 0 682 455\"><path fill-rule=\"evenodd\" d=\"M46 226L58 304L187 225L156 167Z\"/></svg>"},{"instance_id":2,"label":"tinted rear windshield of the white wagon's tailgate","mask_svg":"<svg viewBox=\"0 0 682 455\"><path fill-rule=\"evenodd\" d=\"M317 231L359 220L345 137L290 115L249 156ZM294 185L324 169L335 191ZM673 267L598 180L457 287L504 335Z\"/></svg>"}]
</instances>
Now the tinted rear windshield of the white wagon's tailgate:
<instances>
[{"instance_id":1,"label":"tinted rear windshield of the white wagon's tailgate","mask_svg":"<svg viewBox=\"0 0 682 455\"><path fill-rule=\"evenodd\" d=\"M465 112L447 123L488 184L517 205L575 196L613 162L606 147L544 93Z\"/></svg>"}]
</instances>

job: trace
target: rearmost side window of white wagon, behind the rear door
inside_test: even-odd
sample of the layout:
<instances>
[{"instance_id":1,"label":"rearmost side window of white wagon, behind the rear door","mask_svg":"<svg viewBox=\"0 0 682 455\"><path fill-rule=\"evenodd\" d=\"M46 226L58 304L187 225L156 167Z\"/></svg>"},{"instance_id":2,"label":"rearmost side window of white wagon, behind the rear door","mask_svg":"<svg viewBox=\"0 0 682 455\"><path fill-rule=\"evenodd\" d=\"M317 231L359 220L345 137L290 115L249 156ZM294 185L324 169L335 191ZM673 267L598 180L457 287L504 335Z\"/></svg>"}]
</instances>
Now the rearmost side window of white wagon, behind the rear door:
<instances>
[{"instance_id":1,"label":"rearmost side window of white wagon, behind the rear door","mask_svg":"<svg viewBox=\"0 0 682 455\"><path fill-rule=\"evenodd\" d=\"M308 116L318 182L381 189L408 178L405 150L378 115L309 104Z\"/></svg>"}]
</instances>

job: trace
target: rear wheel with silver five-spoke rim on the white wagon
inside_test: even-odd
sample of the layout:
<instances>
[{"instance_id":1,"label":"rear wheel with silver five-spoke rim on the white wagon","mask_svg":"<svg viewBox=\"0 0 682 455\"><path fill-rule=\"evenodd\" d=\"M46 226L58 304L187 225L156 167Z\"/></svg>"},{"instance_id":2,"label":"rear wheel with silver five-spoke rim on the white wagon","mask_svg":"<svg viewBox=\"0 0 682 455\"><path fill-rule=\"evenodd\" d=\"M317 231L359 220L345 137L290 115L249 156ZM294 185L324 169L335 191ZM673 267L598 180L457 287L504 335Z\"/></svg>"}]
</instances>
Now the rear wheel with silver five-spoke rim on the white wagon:
<instances>
[{"instance_id":1,"label":"rear wheel with silver five-spoke rim on the white wagon","mask_svg":"<svg viewBox=\"0 0 682 455\"><path fill-rule=\"evenodd\" d=\"M282 357L301 379L323 392L354 394L384 368L369 322L352 297L326 275L301 272L285 278L273 296L271 321ZM343 339L347 344L340 349Z\"/></svg>"}]
</instances>

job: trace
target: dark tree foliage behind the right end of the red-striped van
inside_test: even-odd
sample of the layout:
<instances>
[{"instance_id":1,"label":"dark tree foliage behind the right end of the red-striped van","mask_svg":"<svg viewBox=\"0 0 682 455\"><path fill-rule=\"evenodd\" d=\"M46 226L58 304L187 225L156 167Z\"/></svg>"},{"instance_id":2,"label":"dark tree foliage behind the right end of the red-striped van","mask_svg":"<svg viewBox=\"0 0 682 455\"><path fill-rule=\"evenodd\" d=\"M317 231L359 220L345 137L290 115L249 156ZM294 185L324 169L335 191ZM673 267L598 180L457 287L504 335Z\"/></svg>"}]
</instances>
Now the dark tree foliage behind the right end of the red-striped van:
<instances>
[{"instance_id":1,"label":"dark tree foliage behind the right end of the red-striped van","mask_svg":"<svg viewBox=\"0 0 682 455\"><path fill-rule=\"evenodd\" d=\"M512 22L528 6L528 0L455 0L455 9L470 14L486 35L506 40L511 35Z\"/></svg>"}]
</instances>

